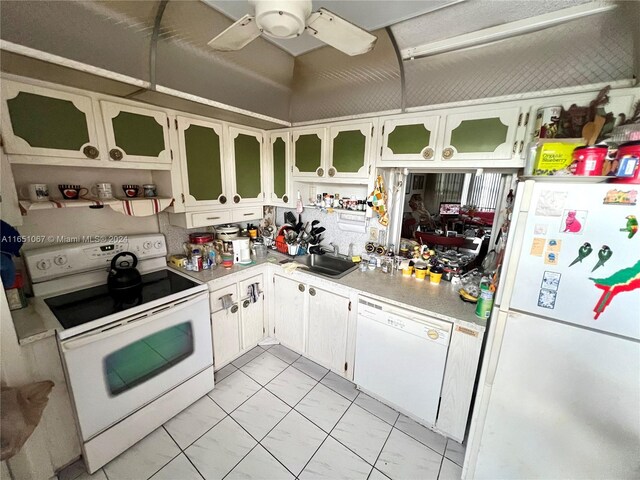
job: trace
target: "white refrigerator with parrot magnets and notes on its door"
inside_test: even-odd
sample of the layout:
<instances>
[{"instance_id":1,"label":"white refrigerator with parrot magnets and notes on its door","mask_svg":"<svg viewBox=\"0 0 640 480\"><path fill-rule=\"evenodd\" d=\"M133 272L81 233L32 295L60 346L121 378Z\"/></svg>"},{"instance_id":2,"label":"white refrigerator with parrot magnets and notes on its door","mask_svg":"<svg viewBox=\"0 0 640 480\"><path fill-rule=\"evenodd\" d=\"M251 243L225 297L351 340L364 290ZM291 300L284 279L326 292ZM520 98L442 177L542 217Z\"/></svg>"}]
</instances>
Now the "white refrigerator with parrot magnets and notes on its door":
<instances>
[{"instance_id":1,"label":"white refrigerator with parrot magnets and notes on its door","mask_svg":"<svg viewBox=\"0 0 640 480\"><path fill-rule=\"evenodd\" d=\"M575 180L518 186L463 478L640 478L640 185Z\"/></svg>"}]
</instances>

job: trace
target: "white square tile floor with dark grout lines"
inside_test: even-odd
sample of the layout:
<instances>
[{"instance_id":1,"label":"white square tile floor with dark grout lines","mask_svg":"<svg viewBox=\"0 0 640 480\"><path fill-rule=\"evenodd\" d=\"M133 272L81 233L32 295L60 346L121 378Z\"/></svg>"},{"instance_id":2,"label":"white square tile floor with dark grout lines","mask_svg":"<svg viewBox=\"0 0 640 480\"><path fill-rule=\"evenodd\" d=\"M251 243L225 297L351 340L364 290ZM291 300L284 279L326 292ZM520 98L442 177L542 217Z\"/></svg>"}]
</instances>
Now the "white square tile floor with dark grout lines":
<instances>
[{"instance_id":1,"label":"white square tile floor with dark grout lines","mask_svg":"<svg viewBox=\"0 0 640 480\"><path fill-rule=\"evenodd\" d=\"M459 479L464 447L280 345L216 373L216 388L88 475L60 480Z\"/></svg>"}]
</instances>

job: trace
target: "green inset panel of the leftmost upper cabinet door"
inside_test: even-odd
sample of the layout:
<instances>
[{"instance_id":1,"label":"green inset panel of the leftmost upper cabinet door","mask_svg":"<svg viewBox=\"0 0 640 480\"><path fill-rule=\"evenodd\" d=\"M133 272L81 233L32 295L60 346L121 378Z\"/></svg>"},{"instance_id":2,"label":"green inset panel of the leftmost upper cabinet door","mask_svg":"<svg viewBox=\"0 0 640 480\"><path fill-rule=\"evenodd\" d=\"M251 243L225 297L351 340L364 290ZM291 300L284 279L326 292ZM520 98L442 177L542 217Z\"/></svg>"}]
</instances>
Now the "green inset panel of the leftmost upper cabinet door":
<instances>
[{"instance_id":1,"label":"green inset panel of the leftmost upper cabinet door","mask_svg":"<svg viewBox=\"0 0 640 480\"><path fill-rule=\"evenodd\" d=\"M32 147L77 151L89 142L87 116L70 100L20 92L7 106L13 133Z\"/></svg>"}]
</instances>

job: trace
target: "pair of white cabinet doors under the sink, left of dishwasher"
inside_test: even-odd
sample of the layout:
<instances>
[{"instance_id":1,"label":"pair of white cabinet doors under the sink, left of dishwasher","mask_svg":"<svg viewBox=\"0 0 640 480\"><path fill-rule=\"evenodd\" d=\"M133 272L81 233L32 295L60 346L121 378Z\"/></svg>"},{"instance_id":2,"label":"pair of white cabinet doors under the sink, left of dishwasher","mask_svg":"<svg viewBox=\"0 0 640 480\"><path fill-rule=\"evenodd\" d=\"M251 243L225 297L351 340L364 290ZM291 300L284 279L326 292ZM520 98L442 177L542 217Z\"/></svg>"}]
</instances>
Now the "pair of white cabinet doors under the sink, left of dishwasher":
<instances>
[{"instance_id":1,"label":"pair of white cabinet doors under the sink, left of dishwasher","mask_svg":"<svg viewBox=\"0 0 640 480\"><path fill-rule=\"evenodd\" d=\"M345 375L351 301L315 284L274 275L274 336L284 346ZM349 370L351 371L351 370Z\"/></svg>"}]
</instances>

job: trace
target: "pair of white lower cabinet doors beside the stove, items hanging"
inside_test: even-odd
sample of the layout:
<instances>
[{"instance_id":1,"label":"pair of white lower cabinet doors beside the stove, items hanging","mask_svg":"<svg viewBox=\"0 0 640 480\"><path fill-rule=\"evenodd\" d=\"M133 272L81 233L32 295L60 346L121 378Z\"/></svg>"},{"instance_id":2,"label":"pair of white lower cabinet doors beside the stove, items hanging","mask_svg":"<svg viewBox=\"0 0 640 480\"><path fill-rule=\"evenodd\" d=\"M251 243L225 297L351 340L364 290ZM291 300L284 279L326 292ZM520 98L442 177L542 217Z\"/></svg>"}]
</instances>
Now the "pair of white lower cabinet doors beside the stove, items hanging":
<instances>
[{"instance_id":1,"label":"pair of white lower cabinet doors beside the stove, items hanging","mask_svg":"<svg viewBox=\"0 0 640 480\"><path fill-rule=\"evenodd\" d=\"M258 284L257 301L251 302L248 288ZM212 284L209 296L211 303L211 330L213 336L213 362L218 370L237 358L241 353L255 347L264 338L264 274L260 273L241 281L234 281L219 288ZM222 307L222 298L231 295L229 308Z\"/></svg>"}]
</instances>

